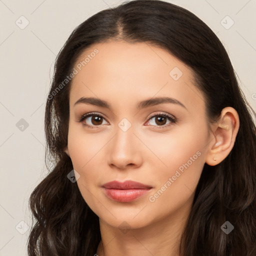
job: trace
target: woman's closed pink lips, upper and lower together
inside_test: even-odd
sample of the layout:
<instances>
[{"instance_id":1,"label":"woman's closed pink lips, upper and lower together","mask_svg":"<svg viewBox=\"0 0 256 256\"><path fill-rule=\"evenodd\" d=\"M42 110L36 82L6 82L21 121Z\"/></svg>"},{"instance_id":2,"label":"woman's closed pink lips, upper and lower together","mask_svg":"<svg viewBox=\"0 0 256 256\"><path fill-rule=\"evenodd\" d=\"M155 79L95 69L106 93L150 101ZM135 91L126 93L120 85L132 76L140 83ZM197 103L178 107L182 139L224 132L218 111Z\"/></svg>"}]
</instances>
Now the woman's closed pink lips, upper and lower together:
<instances>
[{"instance_id":1,"label":"woman's closed pink lips, upper and lower together","mask_svg":"<svg viewBox=\"0 0 256 256\"><path fill-rule=\"evenodd\" d=\"M119 182L116 180L105 183L105 194L115 201L130 202L147 193L152 187L132 180Z\"/></svg>"}]
</instances>

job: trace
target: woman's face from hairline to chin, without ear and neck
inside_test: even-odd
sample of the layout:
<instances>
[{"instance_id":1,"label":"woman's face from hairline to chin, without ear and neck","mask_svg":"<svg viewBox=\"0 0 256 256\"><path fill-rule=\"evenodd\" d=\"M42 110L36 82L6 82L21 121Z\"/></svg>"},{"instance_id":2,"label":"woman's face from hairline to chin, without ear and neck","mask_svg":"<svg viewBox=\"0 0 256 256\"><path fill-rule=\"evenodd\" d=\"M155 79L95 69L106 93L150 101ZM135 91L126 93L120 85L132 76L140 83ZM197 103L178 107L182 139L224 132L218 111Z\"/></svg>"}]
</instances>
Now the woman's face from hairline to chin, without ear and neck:
<instances>
[{"instance_id":1,"label":"woman's face from hairline to chin, without ear and neck","mask_svg":"<svg viewBox=\"0 0 256 256\"><path fill-rule=\"evenodd\" d=\"M75 68L66 152L89 207L133 228L189 211L209 141L191 69L159 47L120 41L90 46ZM150 189L102 187L113 180Z\"/></svg>"}]
</instances>

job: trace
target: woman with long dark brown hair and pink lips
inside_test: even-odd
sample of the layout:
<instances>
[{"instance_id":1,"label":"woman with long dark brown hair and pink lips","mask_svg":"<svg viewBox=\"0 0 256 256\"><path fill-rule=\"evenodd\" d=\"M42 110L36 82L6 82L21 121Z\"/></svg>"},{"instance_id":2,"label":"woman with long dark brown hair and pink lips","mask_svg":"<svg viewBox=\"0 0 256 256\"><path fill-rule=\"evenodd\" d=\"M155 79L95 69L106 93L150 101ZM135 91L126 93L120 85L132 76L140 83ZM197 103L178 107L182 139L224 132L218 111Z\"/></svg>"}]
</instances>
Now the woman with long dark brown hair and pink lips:
<instances>
[{"instance_id":1,"label":"woman with long dark brown hair and pink lips","mask_svg":"<svg viewBox=\"0 0 256 256\"><path fill-rule=\"evenodd\" d=\"M55 63L29 256L256 255L249 110L186 9L135 0L88 18Z\"/></svg>"}]
</instances>

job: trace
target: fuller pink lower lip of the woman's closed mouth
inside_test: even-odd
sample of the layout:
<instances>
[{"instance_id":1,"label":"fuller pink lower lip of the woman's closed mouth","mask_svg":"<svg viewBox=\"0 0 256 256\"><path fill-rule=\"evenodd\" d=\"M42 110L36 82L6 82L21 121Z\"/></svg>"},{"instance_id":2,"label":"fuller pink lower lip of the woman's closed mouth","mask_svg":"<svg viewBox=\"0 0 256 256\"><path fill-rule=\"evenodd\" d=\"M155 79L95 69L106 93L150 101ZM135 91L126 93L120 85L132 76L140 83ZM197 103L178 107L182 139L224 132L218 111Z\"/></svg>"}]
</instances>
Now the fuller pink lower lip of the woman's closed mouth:
<instances>
[{"instance_id":1,"label":"fuller pink lower lip of the woman's closed mouth","mask_svg":"<svg viewBox=\"0 0 256 256\"><path fill-rule=\"evenodd\" d=\"M104 187L103 187L104 188ZM104 188L105 194L118 202L130 202L147 193L151 188L145 189L112 189Z\"/></svg>"}]
</instances>

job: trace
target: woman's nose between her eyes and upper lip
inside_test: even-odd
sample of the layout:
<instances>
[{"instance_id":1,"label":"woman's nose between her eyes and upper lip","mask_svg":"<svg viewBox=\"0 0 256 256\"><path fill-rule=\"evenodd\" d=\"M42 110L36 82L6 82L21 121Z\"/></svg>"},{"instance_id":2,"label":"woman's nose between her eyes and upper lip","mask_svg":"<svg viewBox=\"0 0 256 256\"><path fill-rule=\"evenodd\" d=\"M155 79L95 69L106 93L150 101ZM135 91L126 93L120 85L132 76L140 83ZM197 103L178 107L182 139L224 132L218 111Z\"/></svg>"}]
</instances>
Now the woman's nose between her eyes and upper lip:
<instances>
[{"instance_id":1,"label":"woman's nose between her eyes and upper lip","mask_svg":"<svg viewBox=\"0 0 256 256\"><path fill-rule=\"evenodd\" d=\"M108 164L118 169L136 168L142 162L141 141L130 127L127 131L116 130L116 134L109 141Z\"/></svg>"}]
</instances>

